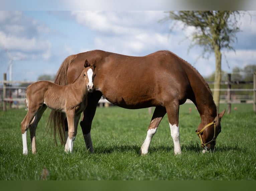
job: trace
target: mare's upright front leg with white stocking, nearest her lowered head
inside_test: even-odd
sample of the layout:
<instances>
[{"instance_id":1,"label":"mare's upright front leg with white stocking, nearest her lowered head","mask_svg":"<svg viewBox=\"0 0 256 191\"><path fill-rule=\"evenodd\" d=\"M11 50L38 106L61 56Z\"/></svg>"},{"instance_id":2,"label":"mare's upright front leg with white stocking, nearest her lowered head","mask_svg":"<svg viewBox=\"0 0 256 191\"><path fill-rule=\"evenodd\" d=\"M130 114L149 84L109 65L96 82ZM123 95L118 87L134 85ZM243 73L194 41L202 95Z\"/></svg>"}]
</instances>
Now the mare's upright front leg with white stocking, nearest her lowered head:
<instances>
[{"instance_id":1,"label":"mare's upright front leg with white stocking, nearest her lowered head","mask_svg":"<svg viewBox=\"0 0 256 191\"><path fill-rule=\"evenodd\" d=\"M174 154L181 154L179 142L179 104L172 101L165 105L171 130L171 137L174 144Z\"/></svg>"}]
</instances>

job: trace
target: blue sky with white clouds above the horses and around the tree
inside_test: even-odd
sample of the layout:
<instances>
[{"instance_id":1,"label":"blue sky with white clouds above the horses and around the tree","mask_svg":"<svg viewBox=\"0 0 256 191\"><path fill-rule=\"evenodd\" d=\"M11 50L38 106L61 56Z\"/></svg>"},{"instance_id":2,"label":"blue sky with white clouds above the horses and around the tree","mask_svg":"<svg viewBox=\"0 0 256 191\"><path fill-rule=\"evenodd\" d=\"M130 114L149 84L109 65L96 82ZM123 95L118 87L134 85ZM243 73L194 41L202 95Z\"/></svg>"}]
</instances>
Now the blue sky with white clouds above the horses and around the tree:
<instances>
[{"instance_id":1,"label":"blue sky with white clouds above the horses and around the tree","mask_svg":"<svg viewBox=\"0 0 256 191\"><path fill-rule=\"evenodd\" d=\"M222 70L232 72L256 64L256 12L241 18L234 51L225 50ZM192 64L203 76L215 71L215 58L199 58L201 47L188 52L186 39L194 30L170 22L159 22L163 11L0 11L0 80L3 73L12 80L35 81L44 74L54 75L71 54L94 49L144 56L158 50L170 50ZM226 62L228 61L228 64Z\"/></svg>"}]
</instances>

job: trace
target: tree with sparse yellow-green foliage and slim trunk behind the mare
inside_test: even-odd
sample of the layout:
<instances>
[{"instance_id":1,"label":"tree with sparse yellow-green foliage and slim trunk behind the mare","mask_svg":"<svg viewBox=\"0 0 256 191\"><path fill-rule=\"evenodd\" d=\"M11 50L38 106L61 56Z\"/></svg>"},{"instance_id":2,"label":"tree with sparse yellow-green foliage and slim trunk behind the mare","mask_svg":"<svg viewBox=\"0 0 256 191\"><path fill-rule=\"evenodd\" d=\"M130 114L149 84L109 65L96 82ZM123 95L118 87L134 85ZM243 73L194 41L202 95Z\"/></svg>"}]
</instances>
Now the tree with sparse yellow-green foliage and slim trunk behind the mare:
<instances>
[{"instance_id":1,"label":"tree with sparse yellow-green foliage and slim trunk behind the mare","mask_svg":"<svg viewBox=\"0 0 256 191\"><path fill-rule=\"evenodd\" d=\"M215 78L213 97L217 107L220 103L220 84L221 84L221 50L231 49L231 43L237 41L236 33L240 31L239 20L246 12L242 11L167 11L168 15L163 21L177 21L183 23L184 28L195 27L192 34L191 47L195 45L204 48L202 56L206 53L215 54Z\"/></svg>"}]
</instances>

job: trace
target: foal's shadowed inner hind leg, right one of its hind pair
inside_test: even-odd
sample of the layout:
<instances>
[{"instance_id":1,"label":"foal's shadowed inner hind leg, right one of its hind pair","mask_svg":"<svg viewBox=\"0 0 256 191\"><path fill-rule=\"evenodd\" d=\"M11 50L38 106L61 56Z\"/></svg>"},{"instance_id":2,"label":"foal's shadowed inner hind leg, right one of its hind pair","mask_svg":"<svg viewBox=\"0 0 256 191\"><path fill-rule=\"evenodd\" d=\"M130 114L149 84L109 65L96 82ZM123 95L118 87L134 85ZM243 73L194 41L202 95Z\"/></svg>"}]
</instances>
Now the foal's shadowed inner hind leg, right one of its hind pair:
<instances>
[{"instance_id":1,"label":"foal's shadowed inner hind leg, right one of its hind pair","mask_svg":"<svg viewBox=\"0 0 256 191\"><path fill-rule=\"evenodd\" d=\"M45 109L47 108L46 105L43 105L35 114L34 120L32 121L32 123L29 125L29 132L30 132L30 140L31 140L31 147L32 147L32 153L36 153L36 141L35 141L35 131L36 131L36 127L38 122L40 121L43 112L45 111Z\"/></svg>"}]
</instances>

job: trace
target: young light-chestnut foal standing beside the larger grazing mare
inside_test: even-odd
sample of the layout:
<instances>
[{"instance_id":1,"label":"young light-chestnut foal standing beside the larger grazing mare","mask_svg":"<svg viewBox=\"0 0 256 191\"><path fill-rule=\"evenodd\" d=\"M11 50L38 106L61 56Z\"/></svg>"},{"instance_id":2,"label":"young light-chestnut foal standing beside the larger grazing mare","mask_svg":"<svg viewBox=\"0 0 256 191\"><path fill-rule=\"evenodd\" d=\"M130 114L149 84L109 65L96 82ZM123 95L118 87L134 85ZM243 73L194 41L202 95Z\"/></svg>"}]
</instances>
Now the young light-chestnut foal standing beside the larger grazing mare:
<instances>
[{"instance_id":1,"label":"young light-chestnut foal standing beside the larger grazing mare","mask_svg":"<svg viewBox=\"0 0 256 191\"><path fill-rule=\"evenodd\" d=\"M83 70L67 86L59 86L48 81L35 82L27 87L25 105L28 110L21 122L23 154L27 154L27 129L29 128L32 153L36 152L35 131L37 124L47 107L65 112L67 115L68 132L66 133L65 151L72 152L77 134L77 126L87 105L87 94L93 90L96 60L93 66L84 62ZM81 73L82 72L82 73Z\"/></svg>"}]
</instances>

